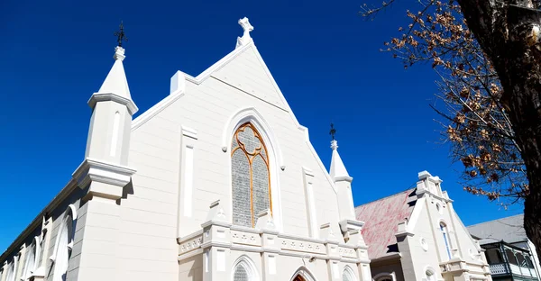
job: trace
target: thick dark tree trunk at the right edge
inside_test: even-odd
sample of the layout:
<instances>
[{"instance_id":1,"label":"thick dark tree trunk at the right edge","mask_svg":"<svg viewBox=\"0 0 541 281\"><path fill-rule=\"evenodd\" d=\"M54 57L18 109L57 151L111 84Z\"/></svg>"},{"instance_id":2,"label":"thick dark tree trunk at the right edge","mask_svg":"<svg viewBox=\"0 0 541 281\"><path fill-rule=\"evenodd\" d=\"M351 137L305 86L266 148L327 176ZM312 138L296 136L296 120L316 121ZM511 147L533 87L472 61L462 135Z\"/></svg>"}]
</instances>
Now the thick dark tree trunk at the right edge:
<instances>
[{"instance_id":1,"label":"thick dark tree trunk at the right edge","mask_svg":"<svg viewBox=\"0 0 541 281\"><path fill-rule=\"evenodd\" d=\"M500 77L529 181L524 228L541 258L541 13L531 0L457 2Z\"/></svg>"}]
</instances>

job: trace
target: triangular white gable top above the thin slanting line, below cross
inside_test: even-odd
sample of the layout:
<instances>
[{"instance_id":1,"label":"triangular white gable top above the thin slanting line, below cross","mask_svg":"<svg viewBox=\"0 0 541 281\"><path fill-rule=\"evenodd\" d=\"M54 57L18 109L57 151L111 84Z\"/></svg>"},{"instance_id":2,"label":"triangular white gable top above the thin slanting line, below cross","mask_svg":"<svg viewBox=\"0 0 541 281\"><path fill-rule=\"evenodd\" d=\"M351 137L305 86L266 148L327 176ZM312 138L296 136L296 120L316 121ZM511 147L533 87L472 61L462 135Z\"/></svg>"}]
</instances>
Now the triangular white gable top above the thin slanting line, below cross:
<instances>
[{"instance_id":1,"label":"triangular white gable top above the thin slanting line, below cross","mask_svg":"<svg viewBox=\"0 0 541 281\"><path fill-rule=\"evenodd\" d=\"M246 46L234 59L215 70L210 76L248 95L289 110L269 68L261 59L253 43Z\"/></svg>"}]
</instances>

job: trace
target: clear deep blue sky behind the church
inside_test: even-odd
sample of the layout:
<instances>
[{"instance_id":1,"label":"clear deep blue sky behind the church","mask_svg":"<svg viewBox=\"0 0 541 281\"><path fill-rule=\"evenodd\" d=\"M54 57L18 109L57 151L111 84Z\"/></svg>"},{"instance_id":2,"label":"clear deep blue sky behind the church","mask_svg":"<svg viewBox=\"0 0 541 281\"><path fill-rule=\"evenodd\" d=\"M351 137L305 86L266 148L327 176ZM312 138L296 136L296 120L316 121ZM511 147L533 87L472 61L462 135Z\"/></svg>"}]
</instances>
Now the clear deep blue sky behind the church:
<instances>
[{"instance_id":1,"label":"clear deep blue sky behind the church","mask_svg":"<svg viewBox=\"0 0 541 281\"><path fill-rule=\"evenodd\" d=\"M328 166L329 122L353 179L355 204L413 186L427 169L466 225L522 212L469 195L460 165L441 144L428 104L436 77L428 66L405 70L381 53L405 25L408 1L374 22L344 1L0 1L0 251L65 186L82 161L90 109L113 64L124 20L124 67L140 112L169 94L180 69L198 73L234 49L236 23L250 18L252 38L298 121Z\"/></svg>"}]
</instances>

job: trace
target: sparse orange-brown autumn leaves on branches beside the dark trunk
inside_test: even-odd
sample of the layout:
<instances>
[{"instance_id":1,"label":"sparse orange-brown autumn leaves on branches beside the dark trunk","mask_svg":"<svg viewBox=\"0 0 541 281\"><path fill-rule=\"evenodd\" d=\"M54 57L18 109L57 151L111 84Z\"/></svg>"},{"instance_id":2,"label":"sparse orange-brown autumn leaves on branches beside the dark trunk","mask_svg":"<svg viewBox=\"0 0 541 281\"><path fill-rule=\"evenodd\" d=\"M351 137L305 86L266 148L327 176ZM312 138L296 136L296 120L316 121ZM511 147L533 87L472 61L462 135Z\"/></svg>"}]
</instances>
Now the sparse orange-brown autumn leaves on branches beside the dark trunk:
<instances>
[{"instance_id":1,"label":"sparse orange-brown autumn leaves on branches beside the dark trunk","mask_svg":"<svg viewBox=\"0 0 541 281\"><path fill-rule=\"evenodd\" d=\"M372 17L382 8L362 6ZM399 37L385 42L383 51L401 59L405 68L428 64L436 81L445 141L453 159L463 164L463 188L507 206L528 195L526 168L515 132L501 103L502 87L490 59L468 29L461 7L451 2L416 2L407 11L409 23Z\"/></svg>"}]
</instances>

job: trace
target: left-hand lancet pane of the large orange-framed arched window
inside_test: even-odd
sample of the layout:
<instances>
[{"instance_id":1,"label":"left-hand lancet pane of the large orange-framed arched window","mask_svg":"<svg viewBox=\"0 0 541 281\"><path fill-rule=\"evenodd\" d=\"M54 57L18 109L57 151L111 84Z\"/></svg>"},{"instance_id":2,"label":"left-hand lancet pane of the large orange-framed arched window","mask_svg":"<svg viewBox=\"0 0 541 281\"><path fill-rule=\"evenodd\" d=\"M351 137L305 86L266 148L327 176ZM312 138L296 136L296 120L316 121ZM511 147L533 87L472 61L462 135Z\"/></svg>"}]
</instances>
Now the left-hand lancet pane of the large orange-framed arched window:
<instances>
[{"instance_id":1,"label":"left-hand lancet pane of the large orange-framed arched window","mask_svg":"<svg viewBox=\"0 0 541 281\"><path fill-rule=\"evenodd\" d=\"M250 163L243 150L236 150L231 158L233 180L233 224L252 227L250 203Z\"/></svg>"}]
</instances>

